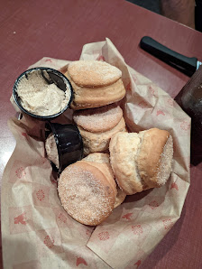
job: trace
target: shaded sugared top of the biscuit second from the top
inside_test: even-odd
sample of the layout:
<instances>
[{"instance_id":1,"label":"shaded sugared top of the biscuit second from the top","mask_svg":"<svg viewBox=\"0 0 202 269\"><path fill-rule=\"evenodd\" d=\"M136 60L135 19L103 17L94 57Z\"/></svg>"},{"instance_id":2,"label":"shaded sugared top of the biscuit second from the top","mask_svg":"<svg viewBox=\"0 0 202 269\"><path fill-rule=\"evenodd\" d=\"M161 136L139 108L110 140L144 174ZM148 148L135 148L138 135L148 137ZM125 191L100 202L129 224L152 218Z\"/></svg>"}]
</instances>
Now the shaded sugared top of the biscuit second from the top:
<instances>
[{"instance_id":1,"label":"shaded sugared top of the biscuit second from the top","mask_svg":"<svg viewBox=\"0 0 202 269\"><path fill-rule=\"evenodd\" d=\"M89 132L106 132L117 125L123 116L122 108L115 104L75 111L75 123Z\"/></svg>"}]
</instances>

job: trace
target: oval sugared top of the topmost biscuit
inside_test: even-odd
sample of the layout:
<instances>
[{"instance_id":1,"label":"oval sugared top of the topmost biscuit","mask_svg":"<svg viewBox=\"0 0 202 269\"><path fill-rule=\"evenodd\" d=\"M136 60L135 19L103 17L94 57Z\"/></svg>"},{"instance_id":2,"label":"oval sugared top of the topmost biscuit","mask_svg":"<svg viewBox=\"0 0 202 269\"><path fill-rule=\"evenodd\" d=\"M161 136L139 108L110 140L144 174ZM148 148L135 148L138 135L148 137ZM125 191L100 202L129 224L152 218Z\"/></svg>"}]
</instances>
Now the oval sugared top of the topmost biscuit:
<instances>
[{"instance_id":1,"label":"oval sugared top of the topmost biscuit","mask_svg":"<svg viewBox=\"0 0 202 269\"><path fill-rule=\"evenodd\" d=\"M106 61L76 60L69 63L70 79L82 87L103 87L115 83L122 77L122 71Z\"/></svg>"}]
</instances>

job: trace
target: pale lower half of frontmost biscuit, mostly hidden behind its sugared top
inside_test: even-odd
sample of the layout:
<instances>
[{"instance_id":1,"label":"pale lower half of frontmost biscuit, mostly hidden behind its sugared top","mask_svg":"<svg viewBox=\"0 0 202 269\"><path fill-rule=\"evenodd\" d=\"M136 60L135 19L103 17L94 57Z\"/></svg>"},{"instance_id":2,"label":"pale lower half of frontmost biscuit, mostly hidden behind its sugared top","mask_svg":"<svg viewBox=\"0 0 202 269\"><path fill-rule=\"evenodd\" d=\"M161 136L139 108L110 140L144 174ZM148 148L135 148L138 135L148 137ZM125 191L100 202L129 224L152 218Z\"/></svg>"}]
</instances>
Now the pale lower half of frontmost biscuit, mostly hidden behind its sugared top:
<instances>
[{"instance_id":1,"label":"pale lower half of frontmost biscuit, mostly hidden behind its sugared top","mask_svg":"<svg viewBox=\"0 0 202 269\"><path fill-rule=\"evenodd\" d=\"M121 190L118 186L118 184L115 182L115 174L112 170L110 161L109 161L109 154L107 153L91 153L87 155L82 161L91 162L92 165L102 164L102 172L109 172L111 174L111 181L113 181L113 188L115 190L115 208L118 207L120 204L124 202L124 199L126 197L126 194L124 193L124 190ZM110 178L110 177L108 177Z\"/></svg>"}]
</instances>

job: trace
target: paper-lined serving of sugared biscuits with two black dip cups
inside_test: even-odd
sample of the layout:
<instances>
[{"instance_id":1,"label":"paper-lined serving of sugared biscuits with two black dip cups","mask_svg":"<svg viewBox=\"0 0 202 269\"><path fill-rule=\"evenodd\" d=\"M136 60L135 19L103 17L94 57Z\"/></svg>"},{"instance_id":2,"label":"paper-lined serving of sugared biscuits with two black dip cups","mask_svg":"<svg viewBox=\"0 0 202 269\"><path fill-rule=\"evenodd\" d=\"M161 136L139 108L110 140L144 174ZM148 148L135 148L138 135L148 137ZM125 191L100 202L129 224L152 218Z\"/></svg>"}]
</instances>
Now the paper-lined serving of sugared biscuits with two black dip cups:
<instances>
[{"instance_id":1,"label":"paper-lined serving of sugared biscuits with two black dip cups","mask_svg":"<svg viewBox=\"0 0 202 269\"><path fill-rule=\"evenodd\" d=\"M3 198L12 191L13 206L3 205L3 230L35 242L17 264L142 264L187 195L189 117L108 39L85 45L80 60L40 60L16 79L12 102L21 119L9 123L17 146L5 169ZM12 219L21 215L20 227Z\"/></svg>"}]
</instances>

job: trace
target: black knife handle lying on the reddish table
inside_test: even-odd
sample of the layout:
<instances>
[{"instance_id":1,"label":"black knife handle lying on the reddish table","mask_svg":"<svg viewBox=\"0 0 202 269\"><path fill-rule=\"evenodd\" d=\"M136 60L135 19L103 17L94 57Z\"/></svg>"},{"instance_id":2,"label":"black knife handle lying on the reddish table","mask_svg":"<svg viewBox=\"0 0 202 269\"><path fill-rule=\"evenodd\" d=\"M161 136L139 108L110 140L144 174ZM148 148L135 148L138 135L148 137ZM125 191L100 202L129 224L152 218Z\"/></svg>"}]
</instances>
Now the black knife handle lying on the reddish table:
<instances>
[{"instance_id":1,"label":"black knife handle lying on the reddish table","mask_svg":"<svg viewBox=\"0 0 202 269\"><path fill-rule=\"evenodd\" d=\"M170 64L170 66L180 70L189 77L191 77L202 64L196 57L189 58L176 51L172 51L161 43L153 40L150 36L142 37L140 46L144 51L151 53L153 56Z\"/></svg>"}]
</instances>

